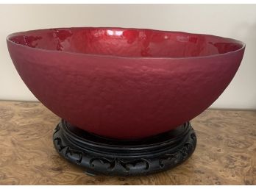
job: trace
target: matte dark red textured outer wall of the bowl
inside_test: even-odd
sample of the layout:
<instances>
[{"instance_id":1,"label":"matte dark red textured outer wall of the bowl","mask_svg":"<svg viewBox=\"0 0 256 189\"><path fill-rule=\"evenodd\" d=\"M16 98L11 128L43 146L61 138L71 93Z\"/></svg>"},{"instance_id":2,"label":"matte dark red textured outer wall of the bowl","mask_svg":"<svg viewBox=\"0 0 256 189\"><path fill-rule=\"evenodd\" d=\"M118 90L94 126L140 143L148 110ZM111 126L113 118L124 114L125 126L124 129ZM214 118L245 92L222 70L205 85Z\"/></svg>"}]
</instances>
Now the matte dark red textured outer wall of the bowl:
<instances>
[{"instance_id":1,"label":"matte dark red textured outer wall of the bowl","mask_svg":"<svg viewBox=\"0 0 256 189\"><path fill-rule=\"evenodd\" d=\"M243 49L191 58L46 51L7 40L32 93L71 124L110 138L157 135L202 113L227 88Z\"/></svg>"}]
</instances>

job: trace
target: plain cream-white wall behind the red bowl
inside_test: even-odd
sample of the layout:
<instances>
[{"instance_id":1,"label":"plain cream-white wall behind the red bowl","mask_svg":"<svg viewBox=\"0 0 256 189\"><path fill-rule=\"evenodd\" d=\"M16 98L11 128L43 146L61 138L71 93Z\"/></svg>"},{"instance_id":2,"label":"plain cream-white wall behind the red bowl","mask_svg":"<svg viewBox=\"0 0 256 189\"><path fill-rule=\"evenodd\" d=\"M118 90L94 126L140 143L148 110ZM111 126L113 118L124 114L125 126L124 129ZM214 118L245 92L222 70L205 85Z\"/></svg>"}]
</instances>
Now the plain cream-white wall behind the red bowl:
<instances>
[{"instance_id":1,"label":"plain cream-white wall behind the red bowl","mask_svg":"<svg viewBox=\"0 0 256 189\"><path fill-rule=\"evenodd\" d=\"M0 99L35 101L10 60L12 32L69 26L121 26L205 33L246 43L243 62L212 105L256 109L256 4L0 4Z\"/></svg>"}]
</instances>

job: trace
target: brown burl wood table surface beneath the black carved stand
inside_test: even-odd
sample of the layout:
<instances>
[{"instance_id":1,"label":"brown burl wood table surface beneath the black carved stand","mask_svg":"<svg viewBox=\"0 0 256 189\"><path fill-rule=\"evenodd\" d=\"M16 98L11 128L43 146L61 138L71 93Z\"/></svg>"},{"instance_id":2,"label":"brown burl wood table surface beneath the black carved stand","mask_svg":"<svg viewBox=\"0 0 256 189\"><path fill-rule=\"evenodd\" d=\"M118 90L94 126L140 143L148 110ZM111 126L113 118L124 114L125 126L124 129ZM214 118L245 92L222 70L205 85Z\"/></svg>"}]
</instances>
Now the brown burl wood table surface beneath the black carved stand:
<instances>
[{"instance_id":1,"label":"brown burl wood table surface beneath the black carved stand","mask_svg":"<svg viewBox=\"0 0 256 189\"><path fill-rule=\"evenodd\" d=\"M57 154L60 121L38 102L0 101L1 185L255 185L256 111L207 110L191 121L192 157L149 176L88 176Z\"/></svg>"}]
</instances>

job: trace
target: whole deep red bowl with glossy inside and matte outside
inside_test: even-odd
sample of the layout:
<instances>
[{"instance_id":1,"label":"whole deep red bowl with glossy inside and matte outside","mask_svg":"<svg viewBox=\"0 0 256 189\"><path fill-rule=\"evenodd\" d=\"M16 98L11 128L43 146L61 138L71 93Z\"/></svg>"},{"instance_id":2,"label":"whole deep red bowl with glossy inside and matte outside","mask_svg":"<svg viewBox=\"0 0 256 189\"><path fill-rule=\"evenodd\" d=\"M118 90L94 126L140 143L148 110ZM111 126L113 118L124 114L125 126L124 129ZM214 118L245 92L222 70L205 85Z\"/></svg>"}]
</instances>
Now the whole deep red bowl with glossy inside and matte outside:
<instances>
[{"instance_id":1,"label":"whole deep red bowl with glossy inside and matte outside","mask_svg":"<svg viewBox=\"0 0 256 189\"><path fill-rule=\"evenodd\" d=\"M227 88L244 43L152 29L65 28L7 37L32 93L71 124L109 138L174 129Z\"/></svg>"}]
</instances>

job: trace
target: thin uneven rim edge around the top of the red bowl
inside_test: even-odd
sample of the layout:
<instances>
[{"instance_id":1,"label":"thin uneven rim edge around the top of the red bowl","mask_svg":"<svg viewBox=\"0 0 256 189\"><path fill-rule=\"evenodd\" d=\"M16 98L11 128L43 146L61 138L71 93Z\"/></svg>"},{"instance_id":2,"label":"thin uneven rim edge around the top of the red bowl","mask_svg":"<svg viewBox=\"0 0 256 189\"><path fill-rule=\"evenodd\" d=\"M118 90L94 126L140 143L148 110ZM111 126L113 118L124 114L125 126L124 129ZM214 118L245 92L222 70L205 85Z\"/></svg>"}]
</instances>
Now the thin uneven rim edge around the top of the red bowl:
<instances>
[{"instance_id":1,"label":"thin uneven rim edge around the top of the red bowl","mask_svg":"<svg viewBox=\"0 0 256 189\"><path fill-rule=\"evenodd\" d=\"M82 52L74 52L74 51L57 51L57 50L49 50L49 49L40 49L40 48L32 48L30 46L24 46L22 44L18 44L13 42L13 40L10 40L15 35L21 35L26 32L35 32L35 31L43 31L43 30L51 30L51 29L135 29L135 30L151 30L154 32L169 32L169 33L178 33L178 34L186 34L186 35L204 35L208 37L213 38L222 38L225 40L232 40L234 43L241 44L241 48L235 50L235 51L228 51L221 54L210 54L210 55L203 55L203 56L196 56L196 57L129 57L129 56L121 56L121 55L109 55L109 54L91 54L91 53L82 53ZM222 57L227 54L235 54L238 51L243 51L246 47L246 43L243 43L241 40L236 40L234 38L224 38L218 35L208 35L208 34L202 34L202 33L192 33L192 32L180 32L180 31L168 31L168 30L160 30L160 29L149 29L149 28L133 28L133 27L112 27L112 26L75 26L75 27L57 27L57 28L46 28L46 29L31 29L26 30L23 32L13 32L10 35L7 35L6 37L7 43L12 43L15 46L22 46L23 48L33 49L36 51L44 51L44 52L54 52L54 53L63 53L63 54L79 54L87 57L110 57L110 58L121 58L121 59L135 59L135 60L181 60L181 59L200 59L200 58L210 58L210 57Z\"/></svg>"}]
</instances>

